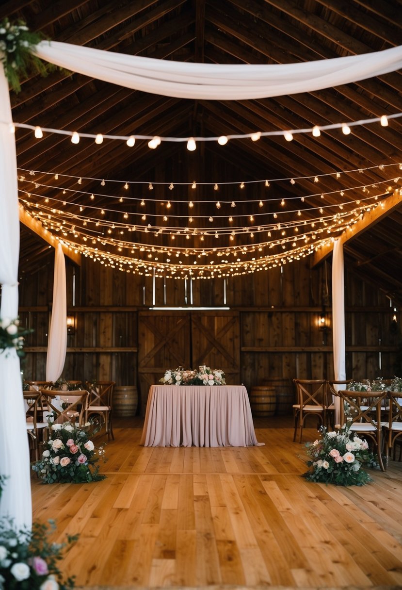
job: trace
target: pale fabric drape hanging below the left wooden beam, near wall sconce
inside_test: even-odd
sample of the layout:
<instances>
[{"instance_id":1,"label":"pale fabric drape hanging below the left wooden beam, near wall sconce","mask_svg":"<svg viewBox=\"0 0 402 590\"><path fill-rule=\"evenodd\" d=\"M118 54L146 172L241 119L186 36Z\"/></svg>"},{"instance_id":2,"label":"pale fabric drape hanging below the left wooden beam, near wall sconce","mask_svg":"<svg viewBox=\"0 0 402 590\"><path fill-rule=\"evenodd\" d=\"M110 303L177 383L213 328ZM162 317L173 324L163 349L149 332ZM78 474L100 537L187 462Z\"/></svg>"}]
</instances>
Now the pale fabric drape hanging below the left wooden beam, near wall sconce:
<instances>
[{"instance_id":1,"label":"pale fabric drape hanging below the left wooden beam, near wall sconce","mask_svg":"<svg viewBox=\"0 0 402 590\"><path fill-rule=\"evenodd\" d=\"M61 244L55 249L52 319L50 322L46 381L57 381L65 362L67 348L67 294L65 285L65 260Z\"/></svg>"}]
</instances>

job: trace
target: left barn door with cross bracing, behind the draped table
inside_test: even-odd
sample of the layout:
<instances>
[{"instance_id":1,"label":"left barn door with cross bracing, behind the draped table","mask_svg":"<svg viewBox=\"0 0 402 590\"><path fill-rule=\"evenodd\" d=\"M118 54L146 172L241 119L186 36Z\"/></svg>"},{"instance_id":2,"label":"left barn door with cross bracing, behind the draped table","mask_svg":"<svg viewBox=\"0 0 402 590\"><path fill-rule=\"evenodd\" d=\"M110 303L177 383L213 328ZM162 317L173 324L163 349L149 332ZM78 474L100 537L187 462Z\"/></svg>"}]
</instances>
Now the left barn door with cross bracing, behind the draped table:
<instances>
[{"instance_id":1,"label":"left barn door with cross bracing, behind the draped table","mask_svg":"<svg viewBox=\"0 0 402 590\"><path fill-rule=\"evenodd\" d=\"M138 373L141 415L148 391L166 369L191 366L189 312L139 312Z\"/></svg>"}]
</instances>

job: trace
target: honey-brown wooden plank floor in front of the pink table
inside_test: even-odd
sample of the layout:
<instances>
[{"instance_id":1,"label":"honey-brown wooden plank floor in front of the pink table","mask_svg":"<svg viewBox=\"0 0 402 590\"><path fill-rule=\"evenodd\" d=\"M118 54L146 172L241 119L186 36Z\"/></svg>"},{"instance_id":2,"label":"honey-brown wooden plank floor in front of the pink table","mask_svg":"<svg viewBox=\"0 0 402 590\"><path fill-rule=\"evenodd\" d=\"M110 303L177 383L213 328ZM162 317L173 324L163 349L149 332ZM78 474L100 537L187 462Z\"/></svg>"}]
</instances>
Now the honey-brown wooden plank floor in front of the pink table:
<instances>
[{"instance_id":1,"label":"honey-brown wooden plank floor in front of the pink table","mask_svg":"<svg viewBox=\"0 0 402 590\"><path fill-rule=\"evenodd\" d=\"M34 519L80 533L62 564L77 586L402 588L402 463L327 487L301 477L304 445L278 421L249 448L144 448L133 425L107 444L104 481L32 474Z\"/></svg>"}]
</instances>

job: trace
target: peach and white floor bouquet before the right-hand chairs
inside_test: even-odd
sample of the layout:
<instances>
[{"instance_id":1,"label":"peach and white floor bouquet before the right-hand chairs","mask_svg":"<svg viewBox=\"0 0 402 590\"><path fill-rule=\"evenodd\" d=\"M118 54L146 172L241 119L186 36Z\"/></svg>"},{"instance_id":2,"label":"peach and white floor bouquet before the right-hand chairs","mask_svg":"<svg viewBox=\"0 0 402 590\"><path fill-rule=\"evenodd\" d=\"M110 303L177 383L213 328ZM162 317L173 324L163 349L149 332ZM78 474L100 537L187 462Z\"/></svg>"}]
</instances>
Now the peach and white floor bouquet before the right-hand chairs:
<instances>
[{"instance_id":1,"label":"peach and white floor bouquet before the right-hand chairs","mask_svg":"<svg viewBox=\"0 0 402 590\"><path fill-rule=\"evenodd\" d=\"M321 427L322 438L307 443L308 481L334 483L337 486L364 486L371 477L363 466L376 467L375 455L368 450L368 442L354 436L348 421L337 431L327 432Z\"/></svg>"}]
</instances>

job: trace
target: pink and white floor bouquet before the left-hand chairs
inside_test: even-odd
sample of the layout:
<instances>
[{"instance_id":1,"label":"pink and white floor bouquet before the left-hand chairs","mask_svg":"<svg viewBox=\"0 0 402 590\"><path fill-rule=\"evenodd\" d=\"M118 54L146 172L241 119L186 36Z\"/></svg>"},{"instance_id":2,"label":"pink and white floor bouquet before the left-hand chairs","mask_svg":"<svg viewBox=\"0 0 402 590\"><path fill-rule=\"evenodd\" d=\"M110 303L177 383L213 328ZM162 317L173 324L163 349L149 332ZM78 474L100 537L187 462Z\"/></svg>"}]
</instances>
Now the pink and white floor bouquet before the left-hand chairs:
<instances>
[{"instance_id":1,"label":"pink and white floor bouquet before the left-hand chairs","mask_svg":"<svg viewBox=\"0 0 402 590\"><path fill-rule=\"evenodd\" d=\"M51 438L45 443L42 458L32 465L44 483L87 483L106 476L99 473L97 462L104 458L104 449L91 437L99 428L90 422L77 427L72 422L52 424Z\"/></svg>"}]
</instances>

